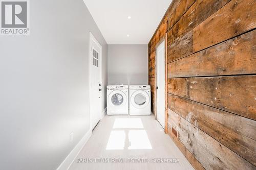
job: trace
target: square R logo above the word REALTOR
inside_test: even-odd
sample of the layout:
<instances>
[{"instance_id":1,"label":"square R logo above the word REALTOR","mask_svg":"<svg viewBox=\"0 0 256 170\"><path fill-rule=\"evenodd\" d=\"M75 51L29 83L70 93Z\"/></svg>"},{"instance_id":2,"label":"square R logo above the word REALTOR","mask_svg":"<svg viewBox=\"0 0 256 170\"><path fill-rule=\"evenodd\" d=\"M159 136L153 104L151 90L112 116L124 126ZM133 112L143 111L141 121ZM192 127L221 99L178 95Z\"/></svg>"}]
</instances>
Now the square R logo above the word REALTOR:
<instances>
[{"instance_id":1,"label":"square R logo above the word REALTOR","mask_svg":"<svg viewBox=\"0 0 256 170\"><path fill-rule=\"evenodd\" d=\"M27 28L28 3L27 1L2 1L2 28Z\"/></svg>"}]
</instances>

